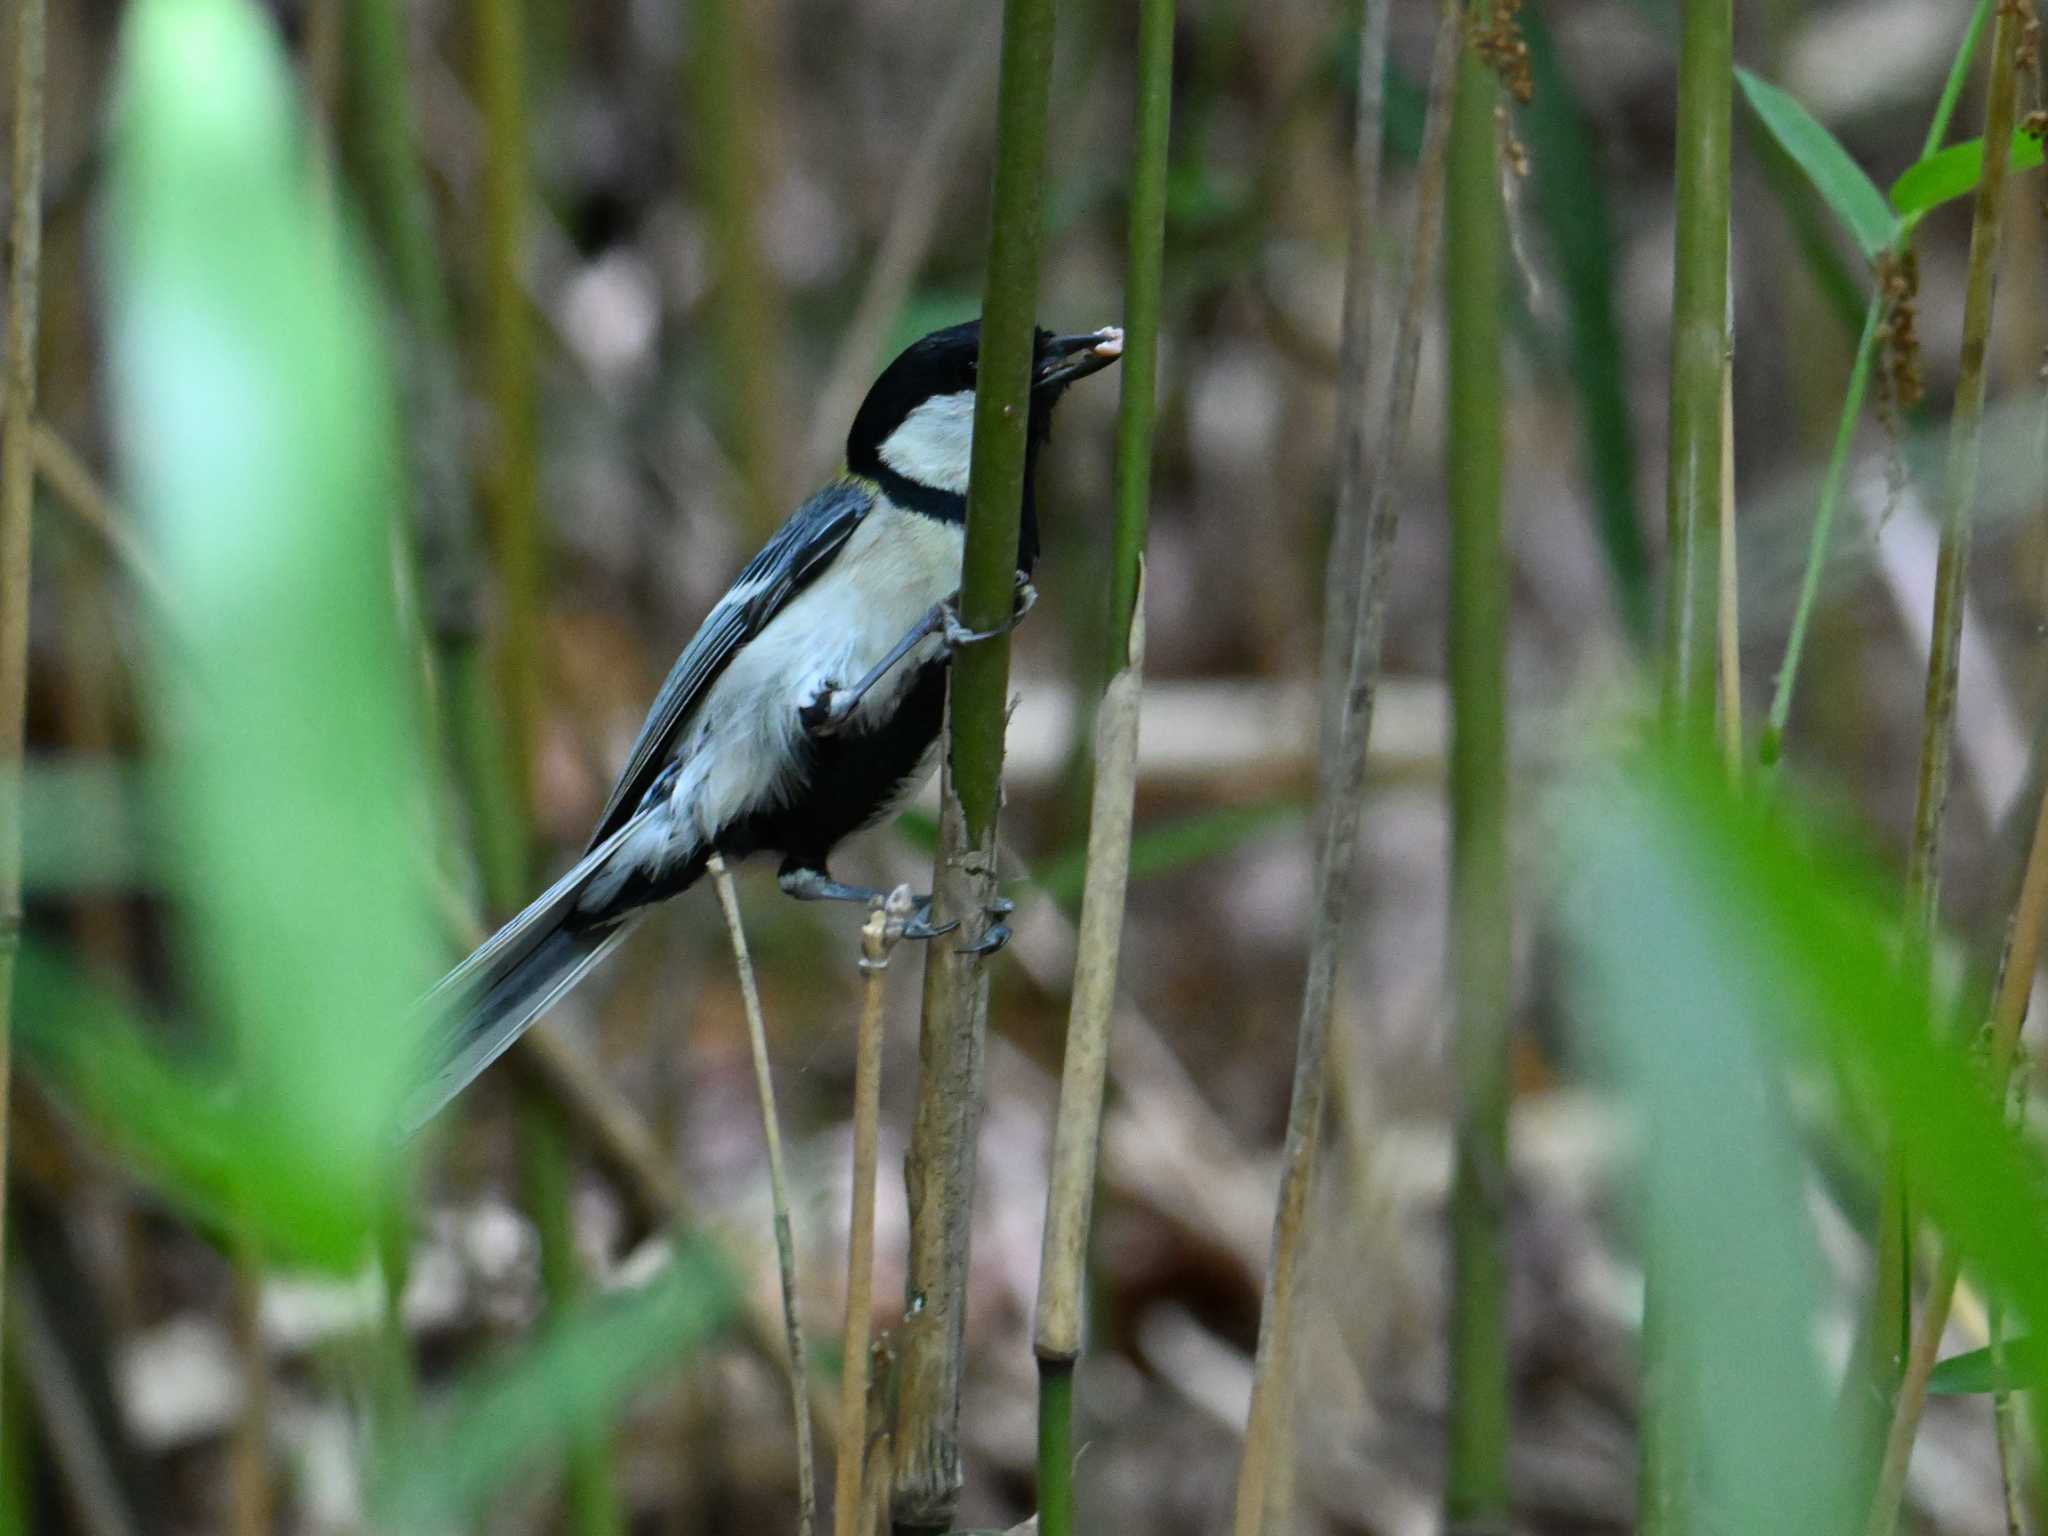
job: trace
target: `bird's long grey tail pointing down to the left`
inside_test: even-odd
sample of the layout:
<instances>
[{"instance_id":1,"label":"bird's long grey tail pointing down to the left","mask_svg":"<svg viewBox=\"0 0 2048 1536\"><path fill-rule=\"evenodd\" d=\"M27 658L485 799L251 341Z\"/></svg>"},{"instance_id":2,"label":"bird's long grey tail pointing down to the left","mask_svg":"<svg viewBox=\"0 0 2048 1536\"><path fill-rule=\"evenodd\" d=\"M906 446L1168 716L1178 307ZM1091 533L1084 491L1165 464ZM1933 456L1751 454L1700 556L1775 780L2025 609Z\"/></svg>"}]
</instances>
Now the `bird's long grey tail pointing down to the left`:
<instances>
[{"instance_id":1,"label":"bird's long grey tail pointing down to the left","mask_svg":"<svg viewBox=\"0 0 2048 1536\"><path fill-rule=\"evenodd\" d=\"M408 1135L440 1114L633 930L639 911L590 918L575 909L584 887L633 829L629 821L584 854L420 1004L430 1055L406 1104Z\"/></svg>"}]
</instances>

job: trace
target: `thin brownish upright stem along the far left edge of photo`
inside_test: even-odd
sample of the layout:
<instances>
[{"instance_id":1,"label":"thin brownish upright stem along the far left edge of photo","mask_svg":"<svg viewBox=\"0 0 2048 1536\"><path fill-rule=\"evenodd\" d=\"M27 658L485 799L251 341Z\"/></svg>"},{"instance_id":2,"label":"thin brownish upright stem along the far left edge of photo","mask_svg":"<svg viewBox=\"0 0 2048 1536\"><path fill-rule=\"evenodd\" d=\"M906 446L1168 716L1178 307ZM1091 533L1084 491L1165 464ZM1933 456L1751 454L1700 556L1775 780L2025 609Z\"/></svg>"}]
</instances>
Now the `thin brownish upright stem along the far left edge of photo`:
<instances>
[{"instance_id":1,"label":"thin brownish upright stem along the far left edge of photo","mask_svg":"<svg viewBox=\"0 0 2048 1536\"><path fill-rule=\"evenodd\" d=\"M45 0L14 6L14 205L8 219L6 401L0 406L0 1274L6 1270L8 1087L20 948L20 776L29 711L35 348L43 299Z\"/></svg>"}]
</instances>

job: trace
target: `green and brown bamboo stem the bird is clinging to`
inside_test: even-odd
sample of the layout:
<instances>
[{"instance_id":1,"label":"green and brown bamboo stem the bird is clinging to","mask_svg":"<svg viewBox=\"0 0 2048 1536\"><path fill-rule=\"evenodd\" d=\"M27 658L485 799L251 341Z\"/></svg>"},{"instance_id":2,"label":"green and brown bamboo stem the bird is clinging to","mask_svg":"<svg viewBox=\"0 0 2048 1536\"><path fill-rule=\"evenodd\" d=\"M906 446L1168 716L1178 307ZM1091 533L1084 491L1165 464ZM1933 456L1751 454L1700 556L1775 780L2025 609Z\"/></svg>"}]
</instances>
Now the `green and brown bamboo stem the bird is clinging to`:
<instances>
[{"instance_id":1,"label":"green and brown bamboo stem the bird is clinging to","mask_svg":"<svg viewBox=\"0 0 2048 1536\"><path fill-rule=\"evenodd\" d=\"M967 494L961 618L999 629L1010 616L1024 504L1024 434L1038 305L1044 137L1053 80L1053 0L1004 0L995 88L995 184L981 303L975 449ZM995 899L1010 637L952 662L948 752L934 870L940 918L967 944L987 932ZM926 956L918 1114L909 1186L909 1311L895 1421L891 1522L944 1530L961 1495L961 1356L967 1323L969 1202L981 1128L989 979L975 954Z\"/></svg>"}]
</instances>

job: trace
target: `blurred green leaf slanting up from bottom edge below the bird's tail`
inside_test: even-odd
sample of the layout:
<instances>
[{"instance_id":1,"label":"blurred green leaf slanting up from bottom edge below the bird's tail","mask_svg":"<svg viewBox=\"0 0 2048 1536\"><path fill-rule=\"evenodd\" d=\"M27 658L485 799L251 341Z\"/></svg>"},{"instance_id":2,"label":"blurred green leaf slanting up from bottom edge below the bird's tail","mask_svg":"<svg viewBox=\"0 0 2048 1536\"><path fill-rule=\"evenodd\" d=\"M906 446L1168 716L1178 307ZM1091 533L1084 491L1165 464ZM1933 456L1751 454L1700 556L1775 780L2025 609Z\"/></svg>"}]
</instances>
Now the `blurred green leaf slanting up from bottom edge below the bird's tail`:
<instances>
[{"instance_id":1,"label":"blurred green leaf slanting up from bottom edge below the bird's tail","mask_svg":"<svg viewBox=\"0 0 2048 1536\"><path fill-rule=\"evenodd\" d=\"M557 1456L571 1434L698 1354L741 1292L705 1239L686 1239L643 1288L588 1303L516 1358L459 1386L440 1413L393 1436L377 1530L444 1532L475 1522L508 1481Z\"/></svg>"}]
</instances>

